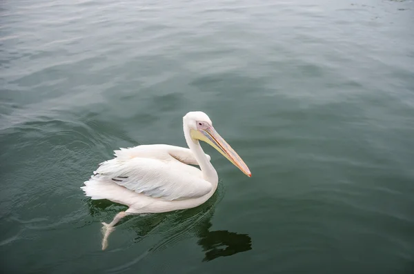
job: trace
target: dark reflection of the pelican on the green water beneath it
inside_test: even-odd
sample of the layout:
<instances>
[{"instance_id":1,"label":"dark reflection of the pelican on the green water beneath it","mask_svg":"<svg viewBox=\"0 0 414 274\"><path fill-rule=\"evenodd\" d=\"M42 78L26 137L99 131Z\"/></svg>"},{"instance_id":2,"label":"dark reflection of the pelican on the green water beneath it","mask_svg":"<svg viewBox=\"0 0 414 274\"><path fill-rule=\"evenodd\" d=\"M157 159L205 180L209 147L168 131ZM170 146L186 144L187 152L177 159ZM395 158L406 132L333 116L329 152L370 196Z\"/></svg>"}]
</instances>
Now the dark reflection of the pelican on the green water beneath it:
<instances>
[{"instance_id":1,"label":"dark reflection of the pelican on the green water beneath it","mask_svg":"<svg viewBox=\"0 0 414 274\"><path fill-rule=\"evenodd\" d=\"M139 255L136 260L129 262L128 265L121 266L121 268L129 267L150 253L161 251L167 247L170 248L172 244L191 237L198 238L197 244L201 246L202 251L205 253L203 262L250 251L252 249L252 239L249 235L223 230L210 231L210 228L213 226L211 219L215 212L215 205L221 196L220 193L221 188L219 186L215 195L197 208L172 213L128 216L125 220L119 222L115 228L122 229L122 226L126 226L126 229L132 230L137 234L137 237L134 239L135 243L141 242L152 233L161 235L161 240L157 244L148 249L144 254ZM102 218L112 219L112 215L126 209L125 206L106 200L92 201L88 199L87 201L90 215L95 219L99 218L99 221L103 221ZM106 215L108 211L110 211L110 214ZM104 217L103 215L106 216ZM116 230L113 233L116 233ZM110 247L111 242L109 239ZM112 269L112 271L119 270L121 269Z\"/></svg>"}]
</instances>

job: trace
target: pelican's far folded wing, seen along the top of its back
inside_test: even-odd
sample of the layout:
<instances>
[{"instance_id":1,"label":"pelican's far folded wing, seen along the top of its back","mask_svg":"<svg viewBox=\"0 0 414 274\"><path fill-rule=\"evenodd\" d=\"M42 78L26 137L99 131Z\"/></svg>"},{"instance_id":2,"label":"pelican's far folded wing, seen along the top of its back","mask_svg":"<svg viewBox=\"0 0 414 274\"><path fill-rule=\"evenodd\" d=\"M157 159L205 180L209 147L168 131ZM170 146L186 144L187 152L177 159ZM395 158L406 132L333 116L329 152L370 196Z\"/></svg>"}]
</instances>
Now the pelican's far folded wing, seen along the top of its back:
<instances>
[{"instance_id":1,"label":"pelican's far folded wing, seen along the top of its back","mask_svg":"<svg viewBox=\"0 0 414 274\"><path fill-rule=\"evenodd\" d=\"M181 148L180 146L170 146L164 144L141 145L133 148L120 148L115 150L117 159L126 160L135 157L152 158L152 159L168 159L174 157L184 164L198 165L193 152L189 148ZM210 156L206 154L210 161Z\"/></svg>"}]
</instances>

